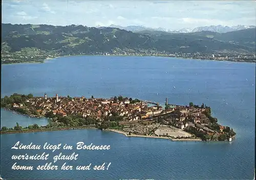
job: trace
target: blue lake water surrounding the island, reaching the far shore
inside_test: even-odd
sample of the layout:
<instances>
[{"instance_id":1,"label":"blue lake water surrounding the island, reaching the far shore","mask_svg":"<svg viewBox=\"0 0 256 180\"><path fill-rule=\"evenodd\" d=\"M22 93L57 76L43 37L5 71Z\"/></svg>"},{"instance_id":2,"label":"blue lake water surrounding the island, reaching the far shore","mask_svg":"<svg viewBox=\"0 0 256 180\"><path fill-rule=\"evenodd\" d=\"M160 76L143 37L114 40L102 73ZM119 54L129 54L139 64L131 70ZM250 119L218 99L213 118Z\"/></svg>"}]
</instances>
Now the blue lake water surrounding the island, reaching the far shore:
<instances>
[{"instance_id":1,"label":"blue lake water surrounding the island, reaching the far shore","mask_svg":"<svg viewBox=\"0 0 256 180\"><path fill-rule=\"evenodd\" d=\"M1 176L4 178L154 178L154 179L253 179L255 142L255 64L199 61L163 57L74 56L46 63L2 65L2 97L13 93L34 96L127 96L164 104L210 106L220 124L237 132L233 142L171 142L128 138L100 130L68 130L1 135ZM1 126L12 113L1 111ZM24 121L15 116L13 122ZM16 119L16 121L15 121ZM26 121L26 120L25 120ZM40 121L40 120L38 120ZM32 123L32 122L29 122ZM15 125L15 124L14 124ZM11 149L17 142L44 145L111 145L110 150L74 150L77 161L68 165L101 165L103 171L16 171L13 154L42 153ZM69 152L67 152L69 151ZM86 152L83 152L86 151ZM60 151L54 153L58 154ZM71 150L62 150L72 153ZM52 156L52 155L51 155ZM46 162L29 160L36 166ZM50 162L50 161L49 161ZM18 160L18 164L27 165Z\"/></svg>"}]
</instances>

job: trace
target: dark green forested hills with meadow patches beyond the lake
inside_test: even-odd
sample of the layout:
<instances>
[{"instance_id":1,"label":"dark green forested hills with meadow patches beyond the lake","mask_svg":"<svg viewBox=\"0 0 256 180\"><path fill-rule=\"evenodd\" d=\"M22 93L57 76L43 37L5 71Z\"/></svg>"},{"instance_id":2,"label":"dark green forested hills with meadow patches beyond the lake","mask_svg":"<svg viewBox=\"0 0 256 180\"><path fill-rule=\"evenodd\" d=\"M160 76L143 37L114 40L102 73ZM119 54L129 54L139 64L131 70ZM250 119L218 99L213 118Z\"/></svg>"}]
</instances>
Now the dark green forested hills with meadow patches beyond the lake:
<instances>
[{"instance_id":1,"label":"dark green forested hills with meadow patches beyond the lake","mask_svg":"<svg viewBox=\"0 0 256 180\"><path fill-rule=\"evenodd\" d=\"M119 28L82 25L2 24L2 55L10 57L10 54L15 54L20 57L20 52L23 56L27 53L33 57L39 54L255 53L255 32L254 28L227 33L150 30L134 33Z\"/></svg>"}]
</instances>

